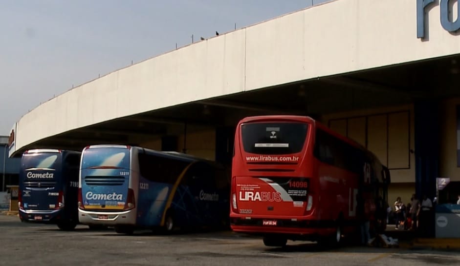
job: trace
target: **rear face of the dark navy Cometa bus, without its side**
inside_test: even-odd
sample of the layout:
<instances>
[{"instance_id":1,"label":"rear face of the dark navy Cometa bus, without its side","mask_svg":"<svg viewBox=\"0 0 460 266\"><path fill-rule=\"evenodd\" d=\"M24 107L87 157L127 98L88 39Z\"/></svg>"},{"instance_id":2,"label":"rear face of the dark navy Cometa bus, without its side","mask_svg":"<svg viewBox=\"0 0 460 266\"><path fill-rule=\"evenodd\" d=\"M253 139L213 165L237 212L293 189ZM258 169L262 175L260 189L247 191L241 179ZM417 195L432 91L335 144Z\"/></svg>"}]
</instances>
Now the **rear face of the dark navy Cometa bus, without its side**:
<instances>
[{"instance_id":1,"label":"rear face of the dark navy Cometa bus, without its side","mask_svg":"<svg viewBox=\"0 0 460 266\"><path fill-rule=\"evenodd\" d=\"M21 197L24 210L55 210L63 203L61 153L25 154L22 160ZM35 215L35 220L45 219Z\"/></svg>"}]
</instances>

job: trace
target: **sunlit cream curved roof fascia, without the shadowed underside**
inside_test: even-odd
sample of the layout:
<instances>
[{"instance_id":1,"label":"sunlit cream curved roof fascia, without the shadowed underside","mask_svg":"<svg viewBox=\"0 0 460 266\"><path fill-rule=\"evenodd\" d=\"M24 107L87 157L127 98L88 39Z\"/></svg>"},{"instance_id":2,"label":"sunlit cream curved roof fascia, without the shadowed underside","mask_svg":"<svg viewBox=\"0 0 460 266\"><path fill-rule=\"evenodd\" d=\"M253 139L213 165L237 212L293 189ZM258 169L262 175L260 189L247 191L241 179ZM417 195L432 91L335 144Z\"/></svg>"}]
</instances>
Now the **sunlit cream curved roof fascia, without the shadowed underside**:
<instances>
[{"instance_id":1,"label":"sunlit cream curved roof fascia, without the shadowed underside","mask_svg":"<svg viewBox=\"0 0 460 266\"><path fill-rule=\"evenodd\" d=\"M180 103L288 82L458 54L460 37L416 1L335 0L199 41L75 87L15 124L15 147L72 129ZM10 155L12 154L10 152Z\"/></svg>"}]
</instances>

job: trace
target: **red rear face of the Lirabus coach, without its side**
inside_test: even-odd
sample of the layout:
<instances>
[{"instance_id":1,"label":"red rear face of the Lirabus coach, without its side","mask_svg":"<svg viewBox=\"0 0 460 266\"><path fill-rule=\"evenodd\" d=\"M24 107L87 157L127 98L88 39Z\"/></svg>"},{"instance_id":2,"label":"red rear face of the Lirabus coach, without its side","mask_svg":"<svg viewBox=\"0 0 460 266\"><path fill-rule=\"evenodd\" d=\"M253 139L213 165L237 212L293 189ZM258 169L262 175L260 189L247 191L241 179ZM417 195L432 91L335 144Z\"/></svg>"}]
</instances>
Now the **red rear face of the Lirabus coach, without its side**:
<instances>
[{"instance_id":1,"label":"red rear face of the Lirabus coach, without its side","mask_svg":"<svg viewBox=\"0 0 460 266\"><path fill-rule=\"evenodd\" d=\"M235 231L299 231L313 215L313 169L300 167L310 166L310 127L292 120L237 127L231 211Z\"/></svg>"}]
</instances>

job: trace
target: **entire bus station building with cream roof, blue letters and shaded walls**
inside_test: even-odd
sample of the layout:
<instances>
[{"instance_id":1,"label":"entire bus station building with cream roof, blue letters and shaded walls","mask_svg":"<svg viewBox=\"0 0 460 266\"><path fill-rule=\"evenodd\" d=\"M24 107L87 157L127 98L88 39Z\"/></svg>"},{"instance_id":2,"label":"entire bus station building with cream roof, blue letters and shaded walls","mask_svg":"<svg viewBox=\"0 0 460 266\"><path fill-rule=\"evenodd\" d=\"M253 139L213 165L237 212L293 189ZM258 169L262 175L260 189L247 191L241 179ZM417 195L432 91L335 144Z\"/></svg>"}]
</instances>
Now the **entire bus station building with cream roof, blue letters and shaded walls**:
<instances>
[{"instance_id":1,"label":"entire bus station building with cream roof, blue letters and shaded walls","mask_svg":"<svg viewBox=\"0 0 460 266\"><path fill-rule=\"evenodd\" d=\"M397 197L460 193L456 1L332 0L113 71L24 114L9 156L119 143L230 165L238 121L310 116L361 143ZM454 4L449 4L455 2ZM31 88L33 89L33 88Z\"/></svg>"}]
</instances>

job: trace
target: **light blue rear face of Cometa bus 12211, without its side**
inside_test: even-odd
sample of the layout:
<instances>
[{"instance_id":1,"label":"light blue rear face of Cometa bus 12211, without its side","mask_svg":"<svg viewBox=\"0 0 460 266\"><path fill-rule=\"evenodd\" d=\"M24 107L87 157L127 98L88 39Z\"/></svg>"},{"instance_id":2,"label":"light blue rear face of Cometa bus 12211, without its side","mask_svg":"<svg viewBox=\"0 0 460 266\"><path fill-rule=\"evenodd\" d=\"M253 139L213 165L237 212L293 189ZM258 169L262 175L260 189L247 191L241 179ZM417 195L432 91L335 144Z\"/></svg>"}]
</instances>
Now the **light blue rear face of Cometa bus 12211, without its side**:
<instances>
[{"instance_id":1,"label":"light blue rear face of Cometa bus 12211, without its side","mask_svg":"<svg viewBox=\"0 0 460 266\"><path fill-rule=\"evenodd\" d=\"M94 145L82 154L79 221L86 225L135 223L131 147Z\"/></svg>"}]
</instances>

